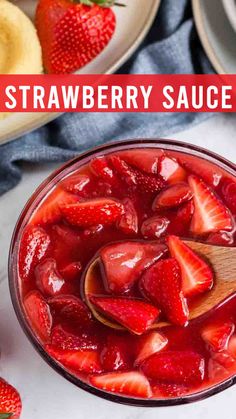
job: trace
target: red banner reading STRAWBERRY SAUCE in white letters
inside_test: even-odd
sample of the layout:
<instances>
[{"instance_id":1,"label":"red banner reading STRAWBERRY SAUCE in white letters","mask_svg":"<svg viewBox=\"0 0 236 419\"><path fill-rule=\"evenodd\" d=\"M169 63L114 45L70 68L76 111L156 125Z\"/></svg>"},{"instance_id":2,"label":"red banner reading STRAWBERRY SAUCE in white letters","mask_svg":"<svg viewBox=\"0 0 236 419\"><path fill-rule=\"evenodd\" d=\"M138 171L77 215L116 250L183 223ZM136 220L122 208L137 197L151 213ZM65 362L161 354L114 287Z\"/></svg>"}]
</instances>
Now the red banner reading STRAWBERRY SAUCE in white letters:
<instances>
[{"instance_id":1,"label":"red banner reading STRAWBERRY SAUCE in white letters","mask_svg":"<svg viewBox=\"0 0 236 419\"><path fill-rule=\"evenodd\" d=\"M0 112L236 112L236 75L1 75Z\"/></svg>"}]
</instances>

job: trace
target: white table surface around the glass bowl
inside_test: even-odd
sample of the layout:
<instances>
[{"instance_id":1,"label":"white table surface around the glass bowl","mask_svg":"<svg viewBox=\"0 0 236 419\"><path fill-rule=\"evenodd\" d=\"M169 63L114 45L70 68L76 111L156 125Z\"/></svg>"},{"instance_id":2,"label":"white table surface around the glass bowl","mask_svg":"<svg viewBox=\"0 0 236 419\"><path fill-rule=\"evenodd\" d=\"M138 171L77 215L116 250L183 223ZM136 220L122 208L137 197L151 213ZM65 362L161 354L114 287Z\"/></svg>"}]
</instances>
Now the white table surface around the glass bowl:
<instances>
[{"instance_id":1,"label":"white table surface around the glass bowl","mask_svg":"<svg viewBox=\"0 0 236 419\"><path fill-rule=\"evenodd\" d=\"M158 133L157 133L158 135ZM236 115L216 115L172 135L236 162ZM23 181L0 198L0 376L20 391L22 419L233 419L236 387L201 402L171 408L122 406L82 391L53 371L36 353L15 317L7 282L13 227L27 198L55 165L30 167Z\"/></svg>"}]
</instances>

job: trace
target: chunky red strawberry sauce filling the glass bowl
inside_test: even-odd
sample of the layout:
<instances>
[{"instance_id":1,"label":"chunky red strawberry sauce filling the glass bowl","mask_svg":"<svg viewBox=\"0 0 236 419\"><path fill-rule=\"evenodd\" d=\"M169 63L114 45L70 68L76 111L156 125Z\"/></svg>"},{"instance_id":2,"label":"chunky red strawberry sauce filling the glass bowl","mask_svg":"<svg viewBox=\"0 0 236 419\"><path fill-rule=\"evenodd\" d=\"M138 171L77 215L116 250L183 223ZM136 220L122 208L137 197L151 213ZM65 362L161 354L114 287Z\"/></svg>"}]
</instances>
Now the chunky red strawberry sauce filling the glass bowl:
<instances>
[{"instance_id":1,"label":"chunky red strawberry sauce filling the glass bowl","mask_svg":"<svg viewBox=\"0 0 236 419\"><path fill-rule=\"evenodd\" d=\"M234 246L235 216L235 178L199 157L139 148L78 167L20 238L21 298L40 344L75 377L134 399L232 377L236 297L189 320L215 278L183 239Z\"/></svg>"}]
</instances>

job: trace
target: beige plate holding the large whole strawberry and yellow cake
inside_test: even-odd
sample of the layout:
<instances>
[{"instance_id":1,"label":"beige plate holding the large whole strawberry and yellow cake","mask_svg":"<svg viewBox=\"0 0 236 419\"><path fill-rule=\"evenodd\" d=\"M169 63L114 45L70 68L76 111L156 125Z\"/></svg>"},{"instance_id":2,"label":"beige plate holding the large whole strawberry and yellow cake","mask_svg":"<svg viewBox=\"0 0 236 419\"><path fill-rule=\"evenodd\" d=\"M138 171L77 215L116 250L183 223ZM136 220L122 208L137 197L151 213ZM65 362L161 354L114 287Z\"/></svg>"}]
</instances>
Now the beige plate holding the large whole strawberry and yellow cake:
<instances>
[{"instance_id":1,"label":"beige plate holding the large whole strawberry and yellow cake","mask_svg":"<svg viewBox=\"0 0 236 419\"><path fill-rule=\"evenodd\" d=\"M79 74L114 73L138 48L147 34L161 0L124 0L126 7L116 7L117 27L105 50ZM14 0L31 18L35 0ZM145 69L144 69L145 70ZM17 138L56 118L56 113L18 113L0 120L0 142Z\"/></svg>"}]
</instances>

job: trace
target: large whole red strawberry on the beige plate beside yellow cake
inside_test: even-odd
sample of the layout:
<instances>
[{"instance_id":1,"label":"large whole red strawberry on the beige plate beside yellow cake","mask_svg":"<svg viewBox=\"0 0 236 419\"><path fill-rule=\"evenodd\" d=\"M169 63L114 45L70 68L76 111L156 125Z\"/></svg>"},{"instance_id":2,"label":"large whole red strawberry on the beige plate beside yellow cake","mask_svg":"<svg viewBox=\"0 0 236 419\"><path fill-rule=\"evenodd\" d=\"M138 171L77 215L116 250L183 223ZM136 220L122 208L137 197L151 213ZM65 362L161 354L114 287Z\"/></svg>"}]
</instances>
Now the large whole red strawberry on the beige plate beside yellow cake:
<instances>
[{"instance_id":1,"label":"large whole red strawberry on the beige plate beside yellow cake","mask_svg":"<svg viewBox=\"0 0 236 419\"><path fill-rule=\"evenodd\" d=\"M72 73L109 43L116 18L114 0L39 0L36 28L48 73Z\"/></svg>"}]
</instances>

